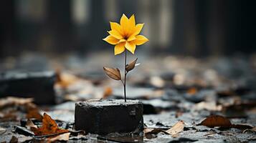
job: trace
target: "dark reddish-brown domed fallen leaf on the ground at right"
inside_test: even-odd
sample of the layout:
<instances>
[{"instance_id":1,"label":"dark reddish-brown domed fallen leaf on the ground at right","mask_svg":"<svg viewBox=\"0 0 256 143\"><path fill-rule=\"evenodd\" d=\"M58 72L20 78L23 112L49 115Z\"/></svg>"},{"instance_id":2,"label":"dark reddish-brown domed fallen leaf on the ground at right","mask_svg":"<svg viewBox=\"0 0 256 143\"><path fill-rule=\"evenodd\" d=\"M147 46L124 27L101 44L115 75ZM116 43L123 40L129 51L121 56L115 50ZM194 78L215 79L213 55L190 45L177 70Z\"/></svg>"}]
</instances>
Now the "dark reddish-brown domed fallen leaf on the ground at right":
<instances>
[{"instance_id":1,"label":"dark reddish-brown domed fallen leaf on the ground at right","mask_svg":"<svg viewBox=\"0 0 256 143\"><path fill-rule=\"evenodd\" d=\"M222 117L219 115L212 115L204 119L199 125L207 126L207 127L231 127L232 124L226 117Z\"/></svg>"}]
</instances>

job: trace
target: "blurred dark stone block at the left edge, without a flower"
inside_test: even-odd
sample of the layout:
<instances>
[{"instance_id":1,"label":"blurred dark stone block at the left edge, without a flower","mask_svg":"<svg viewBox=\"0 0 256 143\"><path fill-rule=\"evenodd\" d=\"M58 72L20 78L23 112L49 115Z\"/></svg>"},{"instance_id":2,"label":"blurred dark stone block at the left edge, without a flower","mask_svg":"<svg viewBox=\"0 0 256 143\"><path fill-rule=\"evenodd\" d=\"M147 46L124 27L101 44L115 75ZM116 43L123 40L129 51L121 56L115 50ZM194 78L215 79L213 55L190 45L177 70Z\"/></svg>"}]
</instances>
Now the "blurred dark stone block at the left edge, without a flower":
<instances>
[{"instance_id":1,"label":"blurred dark stone block at the left edge, without a flower","mask_svg":"<svg viewBox=\"0 0 256 143\"><path fill-rule=\"evenodd\" d=\"M0 97L34 98L36 104L55 104L53 71L0 74Z\"/></svg>"}]
</instances>

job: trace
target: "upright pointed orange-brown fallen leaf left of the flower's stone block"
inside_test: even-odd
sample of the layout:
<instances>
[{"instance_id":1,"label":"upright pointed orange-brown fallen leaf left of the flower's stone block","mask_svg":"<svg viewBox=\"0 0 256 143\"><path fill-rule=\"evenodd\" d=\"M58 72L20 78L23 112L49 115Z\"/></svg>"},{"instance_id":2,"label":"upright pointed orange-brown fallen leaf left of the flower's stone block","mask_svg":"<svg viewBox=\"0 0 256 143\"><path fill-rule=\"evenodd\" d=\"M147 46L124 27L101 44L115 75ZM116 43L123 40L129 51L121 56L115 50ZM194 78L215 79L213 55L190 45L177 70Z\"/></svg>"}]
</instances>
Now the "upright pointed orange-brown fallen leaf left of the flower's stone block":
<instances>
[{"instance_id":1,"label":"upright pointed orange-brown fallen leaf left of the flower's stone block","mask_svg":"<svg viewBox=\"0 0 256 143\"><path fill-rule=\"evenodd\" d=\"M44 117L42 119L42 127L36 128L36 127L31 127L32 132L36 136L42 136L42 135L47 135L47 134L58 134L58 133L66 133L69 132L67 129L60 129L56 122L49 117L48 114L44 113Z\"/></svg>"}]
</instances>

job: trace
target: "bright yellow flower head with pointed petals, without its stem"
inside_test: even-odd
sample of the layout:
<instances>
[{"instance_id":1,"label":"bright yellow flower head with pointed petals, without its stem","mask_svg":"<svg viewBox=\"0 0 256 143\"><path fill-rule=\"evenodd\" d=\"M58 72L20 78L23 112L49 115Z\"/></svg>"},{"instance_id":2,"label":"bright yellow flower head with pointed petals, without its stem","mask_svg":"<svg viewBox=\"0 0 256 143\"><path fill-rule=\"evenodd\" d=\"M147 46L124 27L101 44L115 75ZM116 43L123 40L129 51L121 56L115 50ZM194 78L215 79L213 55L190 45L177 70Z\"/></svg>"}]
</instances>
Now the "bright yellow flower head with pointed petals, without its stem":
<instances>
[{"instance_id":1,"label":"bright yellow flower head with pointed petals, without its stem","mask_svg":"<svg viewBox=\"0 0 256 143\"><path fill-rule=\"evenodd\" d=\"M138 35L142 27L143 24L136 24L134 14L130 19L123 14L120 24L110 22L111 30L108 31L110 35L103 40L115 45L115 55L121 54L125 49L128 49L128 51L134 54L137 45L144 44L148 41L145 36Z\"/></svg>"}]
</instances>

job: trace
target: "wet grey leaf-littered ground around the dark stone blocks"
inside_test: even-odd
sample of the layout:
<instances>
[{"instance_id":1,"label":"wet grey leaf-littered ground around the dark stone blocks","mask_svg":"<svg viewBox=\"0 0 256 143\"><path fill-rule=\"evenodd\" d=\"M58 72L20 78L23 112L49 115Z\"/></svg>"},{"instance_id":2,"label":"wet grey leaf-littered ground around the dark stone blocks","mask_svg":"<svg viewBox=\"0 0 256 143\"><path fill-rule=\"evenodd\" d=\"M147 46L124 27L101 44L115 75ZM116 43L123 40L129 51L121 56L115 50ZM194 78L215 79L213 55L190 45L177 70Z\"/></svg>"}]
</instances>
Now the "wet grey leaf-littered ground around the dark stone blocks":
<instances>
[{"instance_id":1,"label":"wet grey leaf-littered ground around the dark stone blocks","mask_svg":"<svg viewBox=\"0 0 256 143\"><path fill-rule=\"evenodd\" d=\"M128 59L133 58L129 56ZM125 137L117 133L102 136L85 131L86 134L70 136L68 142L256 142L256 55L196 59L139 53L138 62L141 65L128 74L127 97L140 99L143 103L144 129L166 131L183 121L183 131L174 135L148 132L143 136ZM56 71L54 99L57 104L37 104L37 107L41 114L46 112L63 128L74 129L75 102L123 99L122 84L103 73L105 65L123 69L122 64L122 56L110 57L105 53L90 54L87 58L70 55L62 59L26 54L1 61L0 69L7 73ZM33 87L37 85L31 85ZM0 142L9 142L13 136L19 142L39 142L38 138L13 132L15 125L22 126L21 119L27 119L24 105L1 107L1 103L0 127L6 131L1 133L0 129ZM13 117L6 117L11 111ZM254 128L222 129L199 125L209 115L221 115L232 124Z\"/></svg>"}]
</instances>

